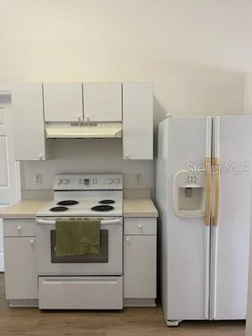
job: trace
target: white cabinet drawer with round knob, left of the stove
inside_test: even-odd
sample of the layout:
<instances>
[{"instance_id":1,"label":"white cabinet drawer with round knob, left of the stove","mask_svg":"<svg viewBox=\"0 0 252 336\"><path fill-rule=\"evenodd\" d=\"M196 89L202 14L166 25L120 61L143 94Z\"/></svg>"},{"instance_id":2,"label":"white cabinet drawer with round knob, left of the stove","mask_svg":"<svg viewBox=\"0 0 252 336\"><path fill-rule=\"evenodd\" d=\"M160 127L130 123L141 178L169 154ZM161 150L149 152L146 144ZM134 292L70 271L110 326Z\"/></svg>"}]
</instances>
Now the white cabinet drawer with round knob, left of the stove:
<instances>
[{"instance_id":1,"label":"white cabinet drawer with round knob, left of the stove","mask_svg":"<svg viewBox=\"0 0 252 336\"><path fill-rule=\"evenodd\" d=\"M5 219L3 221L3 237L35 237L36 222L34 219Z\"/></svg>"}]
</instances>

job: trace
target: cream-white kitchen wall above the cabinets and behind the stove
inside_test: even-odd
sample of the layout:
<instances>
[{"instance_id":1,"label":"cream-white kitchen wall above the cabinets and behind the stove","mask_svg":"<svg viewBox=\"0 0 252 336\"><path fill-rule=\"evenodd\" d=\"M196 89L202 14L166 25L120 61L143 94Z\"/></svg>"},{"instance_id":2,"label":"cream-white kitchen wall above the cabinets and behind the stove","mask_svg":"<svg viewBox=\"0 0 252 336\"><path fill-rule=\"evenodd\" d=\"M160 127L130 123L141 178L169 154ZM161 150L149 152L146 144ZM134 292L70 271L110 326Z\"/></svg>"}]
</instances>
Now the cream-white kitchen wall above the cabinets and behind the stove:
<instances>
[{"instance_id":1,"label":"cream-white kitchen wall above the cabinets and behind the stove","mask_svg":"<svg viewBox=\"0 0 252 336\"><path fill-rule=\"evenodd\" d=\"M251 66L251 25L245 0L3 0L0 87L153 80L155 123L168 112L238 114ZM38 172L41 188L50 188L52 174L66 171L123 172L126 188L137 188L133 176L140 172L141 188L153 188L153 162L123 161L119 140L55 145L55 160L22 165L23 188L36 188Z\"/></svg>"}]
</instances>

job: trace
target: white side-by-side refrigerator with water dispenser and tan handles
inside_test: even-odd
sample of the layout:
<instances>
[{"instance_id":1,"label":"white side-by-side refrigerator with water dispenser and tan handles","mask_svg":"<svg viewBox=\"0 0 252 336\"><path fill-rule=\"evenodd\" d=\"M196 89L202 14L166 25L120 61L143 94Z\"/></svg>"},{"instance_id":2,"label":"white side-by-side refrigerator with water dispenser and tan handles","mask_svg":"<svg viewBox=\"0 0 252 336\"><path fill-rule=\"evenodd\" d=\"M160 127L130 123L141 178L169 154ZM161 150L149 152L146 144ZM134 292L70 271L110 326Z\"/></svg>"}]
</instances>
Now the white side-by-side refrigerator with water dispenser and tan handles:
<instances>
[{"instance_id":1,"label":"white side-by-side refrigerator with water dispenser and tan handles","mask_svg":"<svg viewBox=\"0 0 252 336\"><path fill-rule=\"evenodd\" d=\"M168 117L156 202L167 325L246 318L252 116Z\"/></svg>"}]
</instances>

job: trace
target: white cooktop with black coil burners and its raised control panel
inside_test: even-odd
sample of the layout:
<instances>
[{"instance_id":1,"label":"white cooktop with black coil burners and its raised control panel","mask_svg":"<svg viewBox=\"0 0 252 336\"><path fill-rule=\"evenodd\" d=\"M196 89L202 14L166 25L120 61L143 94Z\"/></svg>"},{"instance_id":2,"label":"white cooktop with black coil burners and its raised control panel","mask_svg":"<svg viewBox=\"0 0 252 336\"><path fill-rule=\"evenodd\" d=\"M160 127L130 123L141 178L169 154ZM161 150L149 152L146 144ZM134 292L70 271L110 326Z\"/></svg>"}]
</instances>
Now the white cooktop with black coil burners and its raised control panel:
<instances>
[{"instance_id":1,"label":"white cooktop with black coil burners and its raised control panel","mask_svg":"<svg viewBox=\"0 0 252 336\"><path fill-rule=\"evenodd\" d=\"M54 200L39 211L36 217L122 217L122 181L120 174L56 174ZM58 204L69 200L78 203ZM100 203L106 200L113 202ZM52 208L59 211L53 211ZM99 208L104 211L99 211Z\"/></svg>"}]
</instances>

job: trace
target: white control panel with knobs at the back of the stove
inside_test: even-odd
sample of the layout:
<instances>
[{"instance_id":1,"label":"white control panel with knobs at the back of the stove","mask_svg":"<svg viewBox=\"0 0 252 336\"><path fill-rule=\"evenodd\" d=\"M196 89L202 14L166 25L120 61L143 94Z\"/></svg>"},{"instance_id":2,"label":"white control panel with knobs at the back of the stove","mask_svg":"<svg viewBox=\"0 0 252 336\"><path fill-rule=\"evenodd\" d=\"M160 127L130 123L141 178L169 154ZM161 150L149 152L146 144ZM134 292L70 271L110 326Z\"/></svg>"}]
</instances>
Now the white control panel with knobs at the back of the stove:
<instances>
[{"instance_id":1,"label":"white control panel with knobs at the back of the stove","mask_svg":"<svg viewBox=\"0 0 252 336\"><path fill-rule=\"evenodd\" d=\"M55 174L54 190L123 190L121 174Z\"/></svg>"}]
</instances>

